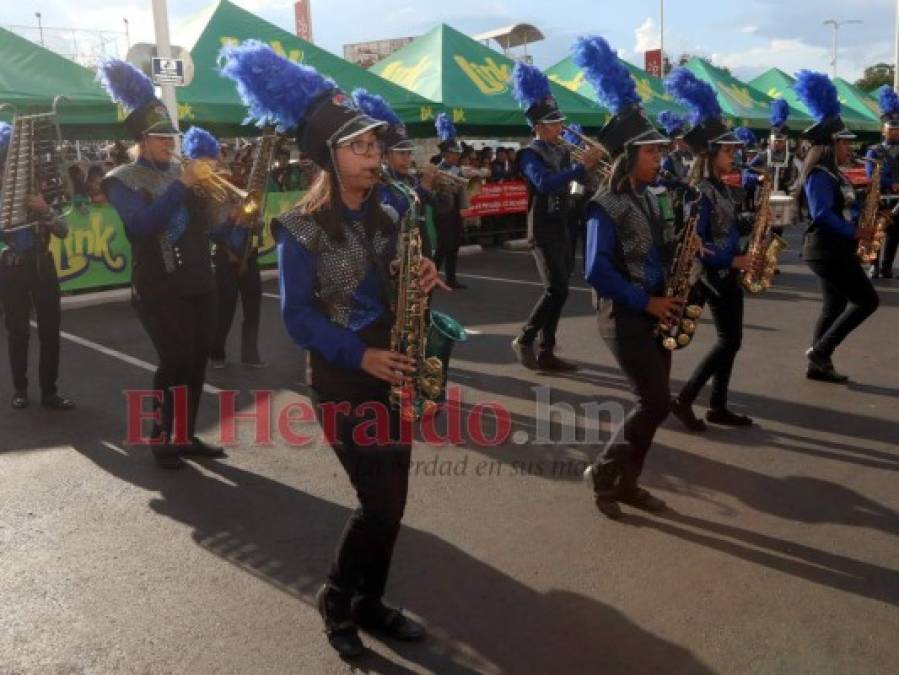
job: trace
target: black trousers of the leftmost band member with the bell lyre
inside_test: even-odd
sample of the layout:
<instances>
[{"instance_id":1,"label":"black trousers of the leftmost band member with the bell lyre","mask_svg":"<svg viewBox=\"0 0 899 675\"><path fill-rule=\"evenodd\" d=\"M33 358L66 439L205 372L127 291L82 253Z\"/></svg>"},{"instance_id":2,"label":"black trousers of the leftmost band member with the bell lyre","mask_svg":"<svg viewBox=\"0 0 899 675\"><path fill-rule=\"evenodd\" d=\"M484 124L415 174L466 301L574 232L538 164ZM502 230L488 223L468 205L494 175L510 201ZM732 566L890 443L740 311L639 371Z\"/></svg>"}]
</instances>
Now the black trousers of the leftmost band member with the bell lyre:
<instances>
[{"instance_id":1,"label":"black trousers of the leftmost band member with the bell lyre","mask_svg":"<svg viewBox=\"0 0 899 675\"><path fill-rule=\"evenodd\" d=\"M49 262L42 266L42 276L38 276L33 259L26 259L17 267L4 267L0 276L13 389L21 392L28 389L29 320L34 307L41 346L38 380L43 398L56 394L61 319L59 281L52 260L47 260Z\"/></svg>"}]
</instances>

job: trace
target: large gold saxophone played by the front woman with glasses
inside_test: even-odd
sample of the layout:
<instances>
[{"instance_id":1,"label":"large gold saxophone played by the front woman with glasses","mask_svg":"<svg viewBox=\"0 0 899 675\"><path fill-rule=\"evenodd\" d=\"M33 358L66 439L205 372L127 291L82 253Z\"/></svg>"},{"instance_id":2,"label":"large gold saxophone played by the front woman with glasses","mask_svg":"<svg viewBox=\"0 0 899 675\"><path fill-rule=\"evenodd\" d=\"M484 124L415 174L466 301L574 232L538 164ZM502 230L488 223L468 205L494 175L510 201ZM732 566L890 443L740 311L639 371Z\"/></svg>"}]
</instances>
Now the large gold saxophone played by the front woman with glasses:
<instances>
[{"instance_id":1,"label":"large gold saxophone played by the front woman with glasses","mask_svg":"<svg viewBox=\"0 0 899 675\"><path fill-rule=\"evenodd\" d=\"M397 296L390 349L413 359L415 373L404 384L391 386L390 403L399 409L403 420L414 421L436 410L442 399L449 354L445 353L441 358L430 350L430 298L422 289L419 277L423 256L421 231L418 228L421 208L418 195L409 186L391 180L383 173L381 180L409 200L409 208L400 222Z\"/></svg>"}]
</instances>

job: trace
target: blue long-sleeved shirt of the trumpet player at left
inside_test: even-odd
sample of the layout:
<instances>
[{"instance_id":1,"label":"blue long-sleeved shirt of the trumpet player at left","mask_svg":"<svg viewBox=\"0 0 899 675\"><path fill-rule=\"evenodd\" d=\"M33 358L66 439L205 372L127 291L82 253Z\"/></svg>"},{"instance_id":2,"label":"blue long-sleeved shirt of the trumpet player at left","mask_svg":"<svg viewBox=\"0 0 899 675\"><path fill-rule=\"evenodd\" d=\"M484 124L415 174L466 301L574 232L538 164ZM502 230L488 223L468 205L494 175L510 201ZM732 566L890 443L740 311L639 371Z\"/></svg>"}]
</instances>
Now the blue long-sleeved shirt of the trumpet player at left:
<instances>
[{"instance_id":1,"label":"blue long-sleeved shirt of the trumpet player at left","mask_svg":"<svg viewBox=\"0 0 899 675\"><path fill-rule=\"evenodd\" d=\"M152 168L152 164L141 158L139 164ZM141 239L168 232L174 242L187 227L188 214L185 206L187 187L180 180L172 181L165 191L149 204L137 190L132 190L119 180L105 182L106 196L115 207L131 239Z\"/></svg>"}]
</instances>

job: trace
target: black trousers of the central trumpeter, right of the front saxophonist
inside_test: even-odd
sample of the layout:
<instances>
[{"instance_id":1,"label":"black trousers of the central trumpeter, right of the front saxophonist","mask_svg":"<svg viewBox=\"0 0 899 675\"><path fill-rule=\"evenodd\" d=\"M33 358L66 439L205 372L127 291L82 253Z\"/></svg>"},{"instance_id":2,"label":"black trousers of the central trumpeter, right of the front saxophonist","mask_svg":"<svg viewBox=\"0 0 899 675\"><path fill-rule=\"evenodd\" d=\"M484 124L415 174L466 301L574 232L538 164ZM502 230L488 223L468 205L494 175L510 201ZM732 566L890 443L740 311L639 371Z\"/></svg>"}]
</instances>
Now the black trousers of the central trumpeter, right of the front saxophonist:
<instances>
[{"instance_id":1,"label":"black trousers of the central trumpeter, right of the front saxophonist","mask_svg":"<svg viewBox=\"0 0 899 675\"><path fill-rule=\"evenodd\" d=\"M534 246L534 260L543 281L543 294L531 310L519 338L524 344L531 344L539 334L540 348L544 350L552 350L556 346L556 329L568 299L571 247L564 228L561 233L563 236L538 242Z\"/></svg>"}]
</instances>

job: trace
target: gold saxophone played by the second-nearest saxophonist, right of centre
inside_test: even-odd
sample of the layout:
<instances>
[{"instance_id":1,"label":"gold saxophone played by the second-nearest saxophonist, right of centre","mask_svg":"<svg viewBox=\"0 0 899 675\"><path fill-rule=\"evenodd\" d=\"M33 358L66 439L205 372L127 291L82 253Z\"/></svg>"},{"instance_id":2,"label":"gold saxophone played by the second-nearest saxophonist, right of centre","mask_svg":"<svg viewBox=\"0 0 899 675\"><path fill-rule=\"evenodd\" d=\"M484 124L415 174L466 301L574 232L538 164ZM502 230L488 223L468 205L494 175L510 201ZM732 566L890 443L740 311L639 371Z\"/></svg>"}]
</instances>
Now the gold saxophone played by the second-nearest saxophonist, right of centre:
<instances>
[{"instance_id":1,"label":"gold saxophone played by the second-nearest saxophonist, right of centre","mask_svg":"<svg viewBox=\"0 0 899 675\"><path fill-rule=\"evenodd\" d=\"M683 305L678 314L669 321L659 321L656 334L662 340L662 346L669 350L682 349L693 339L696 332L696 320L702 314L702 307L688 304L690 291L699 278L699 251L702 243L696 234L696 226L699 223L698 199L694 202L693 213L681 230L668 271L668 280L665 282L665 297L680 298Z\"/></svg>"}]
</instances>

